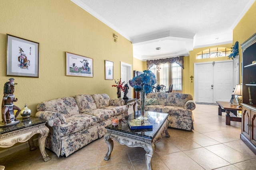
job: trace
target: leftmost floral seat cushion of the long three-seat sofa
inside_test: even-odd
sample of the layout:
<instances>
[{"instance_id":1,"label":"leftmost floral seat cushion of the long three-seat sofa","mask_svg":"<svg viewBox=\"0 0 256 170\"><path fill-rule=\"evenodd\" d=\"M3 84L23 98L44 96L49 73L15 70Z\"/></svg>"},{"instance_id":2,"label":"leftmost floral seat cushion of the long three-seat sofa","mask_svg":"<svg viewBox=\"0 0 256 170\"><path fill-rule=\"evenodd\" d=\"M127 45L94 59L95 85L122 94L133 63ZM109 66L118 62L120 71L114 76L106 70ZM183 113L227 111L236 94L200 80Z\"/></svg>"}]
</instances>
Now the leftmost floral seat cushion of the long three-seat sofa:
<instances>
[{"instance_id":1,"label":"leftmost floral seat cushion of the long three-seat sofa","mask_svg":"<svg viewBox=\"0 0 256 170\"><path fill-rule=\"evenodd\" d=\"M66 118L66 123L58 127L59 136L69 135L71 133L86 129L97 124L97 117L86 114L76 114Z\"/></svg>"}]
</instances>

